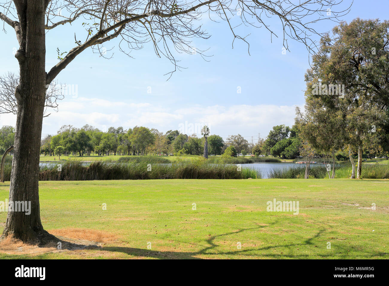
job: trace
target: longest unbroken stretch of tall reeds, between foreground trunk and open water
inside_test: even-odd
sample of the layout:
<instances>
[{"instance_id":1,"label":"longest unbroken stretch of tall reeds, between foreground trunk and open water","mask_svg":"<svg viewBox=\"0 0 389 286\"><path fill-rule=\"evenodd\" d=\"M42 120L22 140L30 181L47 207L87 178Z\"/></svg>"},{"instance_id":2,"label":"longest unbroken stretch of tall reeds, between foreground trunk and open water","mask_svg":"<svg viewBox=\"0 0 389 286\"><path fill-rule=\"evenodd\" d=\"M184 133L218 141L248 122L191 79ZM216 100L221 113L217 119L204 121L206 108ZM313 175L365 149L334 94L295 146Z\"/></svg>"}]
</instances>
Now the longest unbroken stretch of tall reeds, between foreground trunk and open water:
<instances>
[{"instance_id":1,"label":"longest unbroken stretch of tall reeds, between foreground trunk and open water","mask_svg":"<svg viewBox=\"0 0 389 286\"><path fill-rule=\"evenodd\" d=\"M203 158L173 163L92 162L89 166L79 161L42 167L40 181L86 181L86 180L138 180L138 179L257 179L260 172L235 165L210 164Z\"/></svg>"}]
</instances>

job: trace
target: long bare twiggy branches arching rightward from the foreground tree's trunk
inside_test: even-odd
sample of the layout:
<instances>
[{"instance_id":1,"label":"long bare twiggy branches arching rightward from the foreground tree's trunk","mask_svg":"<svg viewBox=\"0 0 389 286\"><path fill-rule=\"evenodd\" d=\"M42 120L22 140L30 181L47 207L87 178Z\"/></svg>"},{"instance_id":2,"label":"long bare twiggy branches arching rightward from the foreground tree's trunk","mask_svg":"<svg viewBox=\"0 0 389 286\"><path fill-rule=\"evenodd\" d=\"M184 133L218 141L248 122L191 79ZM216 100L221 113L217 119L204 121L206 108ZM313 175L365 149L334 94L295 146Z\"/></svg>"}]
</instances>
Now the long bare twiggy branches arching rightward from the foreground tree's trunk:
<instances>
[{"instance_id":1,"label":"long bare twiggy branches arching rightward from the foreground tree's trunk","mask_svg":"<svg viewBox=\"0 0 389 286\"><path fill-rule=\"evenodd\" d=\"M200 0L201 1L201 0ZM58 25L72 23L80 16L83 16L87 23L87 37L84 43L75 41L77 46L71 49L68 54L57 63L47 74L47 83L51 82L59 72L65 68L74 58L88 47L103 44L119 35L121 41L119 49L124 53L123 44L128 46L130 51L141 49L146 42L152 42L158 56L165 56L174 64L174 70L180 69L175 60L175 51L178 53L190 53L192 37L208 39L209 35L202 30L202 26L195 26L195 21L200 20L204 12L215 12L219 18L226 21L233 35L232 44L235 39L247 43L247 36L240 36L238 27L243 23L246 26L261 27L270 31L270 35L277 35L265 23L266 18L275 17L279 19L282 26L283 45L289 50L287 40L293 39L303 43L308 51L315 53L316 40L312 35L322 37L323 33L315 30L312 24L328 19L339 21L338 17L347 14L344 9L340 12L332 11L334 6L342 3L343 0L304 0L293 3L292 0L208 0L196 4L195 0L64 0L51 2L47 18L65 18L52 25L46 24L50 30ZM62 16L61 9L65 8L70 16ZM237 11L240 11L240 17ZM58 16L59 14L59 16ZM48 20L49 21L49 20ZM51 20L50 20L51 21ZM242 23L235 25L234 22ZM89 23L88 23L89 22ZM175 51L170 47L173 46ZM94 48L93 48L94 49ZM99 49L99 48L97 48ZM201 56L204 51L196 49Z\"/></svg>"}]
</instances>

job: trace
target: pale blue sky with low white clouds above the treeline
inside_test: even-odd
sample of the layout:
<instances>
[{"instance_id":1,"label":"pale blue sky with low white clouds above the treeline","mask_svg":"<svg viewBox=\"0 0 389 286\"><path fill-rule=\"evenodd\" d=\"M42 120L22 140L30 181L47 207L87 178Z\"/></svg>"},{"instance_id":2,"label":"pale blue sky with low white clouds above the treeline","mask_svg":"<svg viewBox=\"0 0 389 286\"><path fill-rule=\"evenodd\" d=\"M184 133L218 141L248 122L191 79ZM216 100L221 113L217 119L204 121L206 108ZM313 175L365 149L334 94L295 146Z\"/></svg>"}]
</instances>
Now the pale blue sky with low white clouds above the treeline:
<instances>
[{"instance_id":1,"label":"pale blue sky with low white clouds above the treeline","mask_svg":"<svg viewBox=\"0 0 389 286\"><path fill-rule=\"evenodd\" d=\"M345 3L350 1L344 0ZM363 19L387 19L387 0L354 0L351 12L343 17L347 22ZM107 130L110 126L127 129L135 125L157 128L160 131L179 129L183 133L198 133L206 123L213 134L240 133L247 140L266 137L274 125L293 125L295 106L303 106L304 74L309 67L308 52L303 44L288 41L290 52L282 54L282 37L272 37L264 28L248 28L240 35L247 44L235 40L226 22L203 21L210 39L194 39L193 46L207 49L213 55L204 61L199 54L179 54L180 65L174 69L165 58L158 58L151 46L132 51L129 58L118 49L119 39L104 45L110 60L94 54L91 49L68 65L57 77L62 84L71 85L76 95L66 95L59 111L44 118L42 137L55 134L62 125L81 127L85 124ZM281 36L280 25L270 20L273 30ZM74 32L81 38L77 23L63 25L47 32L46 67L55 65L57 47L68 51L74 47ZM323 21L315 27L326 32L335 25ZM13 56L18 44L11 28L0 32L0 74L18 72ZM109 51L112 48L111 51ZM237 93L238 87L241 93ZM15 125L15 116L2 114L0 126Z\"/></svg>"}]
</instances>

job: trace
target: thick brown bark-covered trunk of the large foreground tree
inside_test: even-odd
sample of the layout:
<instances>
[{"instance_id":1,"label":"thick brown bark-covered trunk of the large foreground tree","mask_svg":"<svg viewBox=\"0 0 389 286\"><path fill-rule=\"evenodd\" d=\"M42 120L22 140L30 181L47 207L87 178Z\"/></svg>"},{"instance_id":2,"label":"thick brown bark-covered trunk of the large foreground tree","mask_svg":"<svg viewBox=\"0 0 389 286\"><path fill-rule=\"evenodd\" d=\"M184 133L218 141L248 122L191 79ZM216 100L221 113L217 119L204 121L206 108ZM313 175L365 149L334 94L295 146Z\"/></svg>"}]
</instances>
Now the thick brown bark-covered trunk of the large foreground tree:
<instances>
[{"instance_id":1,"label":"thick brown bark-covered trunk of the large foreground tree","mask_svg":"<svg viewBox=\"0 0 389 286\"><path fill-rule=\"evenodd\" d=\"M23 7L19 7L23 6ZM29 0L18 5L20 22L20 80L15 91L18 100L14 156L12 159L9 202L31 204L30 214L9 211L2 237L13 235L25 242L45 244L55 239L40 221L39 152L46 93L45 1Z\"/></svg>"}]
</instances>

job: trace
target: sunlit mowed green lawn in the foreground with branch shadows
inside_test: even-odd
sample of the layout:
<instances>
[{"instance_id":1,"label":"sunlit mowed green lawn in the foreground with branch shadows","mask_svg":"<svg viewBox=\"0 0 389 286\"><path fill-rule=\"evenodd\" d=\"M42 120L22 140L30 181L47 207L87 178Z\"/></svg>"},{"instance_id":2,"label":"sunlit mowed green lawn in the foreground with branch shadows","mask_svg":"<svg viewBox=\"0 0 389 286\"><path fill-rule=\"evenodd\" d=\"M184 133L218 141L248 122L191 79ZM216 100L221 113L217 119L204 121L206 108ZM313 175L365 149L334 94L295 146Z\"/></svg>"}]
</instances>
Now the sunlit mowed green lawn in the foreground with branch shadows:
<instances>
[{"instance_id":1,"label":"sunlit mowed green lawn in the foreground with branch shadows","mask_svg":"<svg viewBox=\"0 0 389 286\"><path fill-rule=\"evenodd\" d=\"M374 179L40 182L46 230L115 239L0 258L389 258L388 193L389 180ZM8 195L0 183L0 200ZM299 201L300 213L267 212L273 198ZM5 220L0 212L0 231Z\"/></svg>"}]
</instances>

